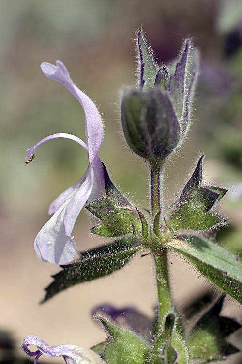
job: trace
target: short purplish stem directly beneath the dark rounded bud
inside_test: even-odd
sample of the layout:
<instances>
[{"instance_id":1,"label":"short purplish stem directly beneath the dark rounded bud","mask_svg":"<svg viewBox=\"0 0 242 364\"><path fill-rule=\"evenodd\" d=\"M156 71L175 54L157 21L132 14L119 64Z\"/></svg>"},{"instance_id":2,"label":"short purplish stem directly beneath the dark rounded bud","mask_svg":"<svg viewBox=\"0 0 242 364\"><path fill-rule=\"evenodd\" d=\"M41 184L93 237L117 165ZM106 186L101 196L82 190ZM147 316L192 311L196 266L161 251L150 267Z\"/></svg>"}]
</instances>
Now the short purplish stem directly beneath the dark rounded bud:
<instances>
[{"instance_id":1,"label":"short purplish stem directly beneath the dark rounded bud","mask_svg":"<svg viewBox=\"0 0 242 364\"><path fill-rule=\"evenodd\" d=\"M151 165L151 209L152 219L160 211L160 164Z\"/></svg>"}]
</instances>

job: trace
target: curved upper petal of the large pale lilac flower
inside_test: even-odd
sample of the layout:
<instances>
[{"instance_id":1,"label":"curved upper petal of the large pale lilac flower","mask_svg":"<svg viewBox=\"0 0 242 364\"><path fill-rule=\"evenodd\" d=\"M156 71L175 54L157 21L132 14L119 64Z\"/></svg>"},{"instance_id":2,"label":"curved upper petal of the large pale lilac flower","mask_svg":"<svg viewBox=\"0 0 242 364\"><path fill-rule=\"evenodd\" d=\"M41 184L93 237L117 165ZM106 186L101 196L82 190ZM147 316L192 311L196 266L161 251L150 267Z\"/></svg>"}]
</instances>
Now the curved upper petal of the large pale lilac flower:
<instances>
[{"instance_id":1,"label":"curved upper petal of the large pale lilac flower","mask_svg":"<svg viewBox=\"0 0 242 364\"><path fill-rule=\"evenodd\" d=\"M56 61L56 66L43 62L41 69L45 73L45 76L52 80L62 82L82 105L85 113L86 143L89 148L89 161L92 163L97 156L104 136L102 119L94 102L76 87L70 78L68 70L61 61Z\"/></svg>"}]
</instances>

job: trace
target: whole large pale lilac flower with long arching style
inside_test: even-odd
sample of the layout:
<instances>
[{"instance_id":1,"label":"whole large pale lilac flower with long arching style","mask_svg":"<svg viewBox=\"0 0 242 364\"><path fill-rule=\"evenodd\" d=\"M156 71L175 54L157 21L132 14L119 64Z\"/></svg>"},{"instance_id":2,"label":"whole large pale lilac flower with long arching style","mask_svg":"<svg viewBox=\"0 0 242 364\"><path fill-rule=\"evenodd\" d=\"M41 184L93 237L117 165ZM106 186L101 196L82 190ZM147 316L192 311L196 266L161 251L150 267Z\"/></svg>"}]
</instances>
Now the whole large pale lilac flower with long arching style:
<instances>
[{"instance_id":1,"label":"whole large pale lilac flower with long arching style","mask_svg":"<svg viewBox=\"0 0 242 364\"><path fill-rule=\"evenodd\" d=\"M61 61L56 61L56 65L44 62L41 69L47 77L62 82L82 105L85 113L86 143L71 134L50 135L28 149L29 153L25 162L29 163L33 160L35 157L33 151L38 146L54 138L72 139L88 153L89 165L86 173L52 202L48 213L54 215L38 233L34 242L40 260L52 264L65 264L71 262L76 256L76 243L71 233L81 209L87 201L91 203L105 195L103 166L97 156L103 141L104 130L101 116L93 101L75 86Z\"/></svg>"}]
</instances>

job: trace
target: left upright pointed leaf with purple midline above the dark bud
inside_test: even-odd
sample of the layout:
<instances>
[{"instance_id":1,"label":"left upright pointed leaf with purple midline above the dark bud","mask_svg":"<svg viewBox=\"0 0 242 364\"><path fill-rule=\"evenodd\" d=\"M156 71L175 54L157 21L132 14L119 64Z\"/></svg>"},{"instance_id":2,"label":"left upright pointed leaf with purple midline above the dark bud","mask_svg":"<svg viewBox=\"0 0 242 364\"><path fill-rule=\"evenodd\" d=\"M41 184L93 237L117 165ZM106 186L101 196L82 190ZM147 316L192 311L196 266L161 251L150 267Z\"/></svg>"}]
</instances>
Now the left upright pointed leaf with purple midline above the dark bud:
<instances>
[{"instance_id":1,"label":"left upright pointed leaf with purple midline above the dark bud","mask_svg":"<svg viewBox=\"0 0 242 364\"><path fill-rule=\"evenodd\" d=\"M140 75L140 87L145 90L154 87L158 66L154 61L153 50L149 46L143 32L138 32L136 41L139 59L138 65L140 66L137 73Z\"/></svg>"}]
</instances>

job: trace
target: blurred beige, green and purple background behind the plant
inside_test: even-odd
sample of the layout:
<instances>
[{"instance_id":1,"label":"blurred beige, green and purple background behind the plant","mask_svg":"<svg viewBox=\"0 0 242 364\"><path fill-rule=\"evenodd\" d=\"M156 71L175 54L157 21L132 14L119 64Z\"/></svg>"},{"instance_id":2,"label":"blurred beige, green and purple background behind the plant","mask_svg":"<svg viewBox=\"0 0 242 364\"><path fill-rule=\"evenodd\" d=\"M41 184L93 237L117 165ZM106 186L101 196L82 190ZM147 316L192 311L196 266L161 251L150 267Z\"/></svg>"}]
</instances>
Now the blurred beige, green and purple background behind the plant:
<instances>
[{"instance_id":1,"label":"blurred beige, green and purple background behind the plant","mask_svg":"<svg viewBox=\"0 0 242 364\"><path fill-rule=\"evenodd\" d=\"M105 125L99 155L113 182L136 205L149 206L147 170L125 147L119 114L122 87L135 83L132 38L141 27L158 63L176 58L186 37L201 52L194 125L167 172L166 200L174 199L197 157L205 153L205 180L231 190L220 206L231 229L222 229L217 238L242 253L241 0L0 0L0 331L13 335L19 355L29 334L49 345L72 343L86 349L103 340L104 332L91 317L103 303L119 309L135 306L153 315L149 256L39 304L50 275L60 268L38 260L35 236L48 219L49 204L84 174L88 159L79 145L59 139L39 148L33 163L24 163L26 149L47 135L66 132L84 138L78 101L39 67L60 59L99 107ZM78 250L103 243L90 237L90 228L82 212L73 232ZM180 308L189 296L192 301L207 291L213 295L213 287L191 266L175 256L172 261L174 299ZM226 314L242 318L229 298Z\"/></svg>"}]
</instances>

